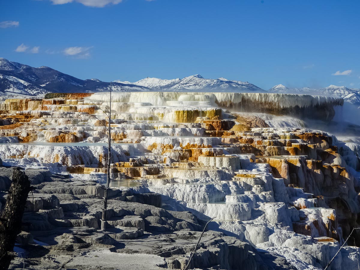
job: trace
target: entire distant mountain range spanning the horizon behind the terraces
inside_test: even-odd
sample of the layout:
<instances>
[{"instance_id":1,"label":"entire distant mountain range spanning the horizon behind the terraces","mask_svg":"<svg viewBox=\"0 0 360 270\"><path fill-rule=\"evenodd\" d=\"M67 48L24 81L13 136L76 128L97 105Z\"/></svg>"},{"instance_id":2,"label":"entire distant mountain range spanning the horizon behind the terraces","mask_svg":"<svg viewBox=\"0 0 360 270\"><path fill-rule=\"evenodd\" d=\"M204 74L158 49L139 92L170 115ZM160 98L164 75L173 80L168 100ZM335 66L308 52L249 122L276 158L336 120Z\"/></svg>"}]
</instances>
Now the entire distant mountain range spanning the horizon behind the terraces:
<instances>
[{"instance_id":1,"label":"entire distant mountain range spanning the horizon behind the terraces","mask_svg":"<svg viewBox=\"0 0 360 270\"><path fill-rule=\"evenodd\" d=\"M327 95L343 98L346 102L360 106L360 89L330 85L312 89L310 87L288 88L282 84L265 91L249 82L226 78L206 79L201 75L163 80L144 78L137 82L115 81L113 91L209 91L250 92ZM0 58L0 94L44 95L46 93L102 92L110 89L110 82L96 78L81 80L50 67L34 68L25 64Z\"/></svg>"}]
</instances>

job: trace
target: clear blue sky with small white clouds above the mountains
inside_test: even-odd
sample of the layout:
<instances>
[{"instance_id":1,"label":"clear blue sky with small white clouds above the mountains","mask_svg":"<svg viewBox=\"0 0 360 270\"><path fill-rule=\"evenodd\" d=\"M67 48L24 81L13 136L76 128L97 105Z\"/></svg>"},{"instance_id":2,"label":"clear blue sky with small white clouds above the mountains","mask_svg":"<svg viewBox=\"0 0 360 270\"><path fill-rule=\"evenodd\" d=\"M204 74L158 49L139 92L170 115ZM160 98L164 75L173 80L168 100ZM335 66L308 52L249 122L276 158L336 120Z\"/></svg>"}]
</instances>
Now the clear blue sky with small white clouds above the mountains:
<instances>
[{"instance_id":1,"label":"clear blue sky with small white clouds above the mountains","mask_svg":"<svg viewBox=\"0 0 360 270\"><path fill-rule=\"evenodd\" d=\"M358 0L1 0L0 10L0 57L81 79L360 88Z\"/></svg>"}]
</instances>

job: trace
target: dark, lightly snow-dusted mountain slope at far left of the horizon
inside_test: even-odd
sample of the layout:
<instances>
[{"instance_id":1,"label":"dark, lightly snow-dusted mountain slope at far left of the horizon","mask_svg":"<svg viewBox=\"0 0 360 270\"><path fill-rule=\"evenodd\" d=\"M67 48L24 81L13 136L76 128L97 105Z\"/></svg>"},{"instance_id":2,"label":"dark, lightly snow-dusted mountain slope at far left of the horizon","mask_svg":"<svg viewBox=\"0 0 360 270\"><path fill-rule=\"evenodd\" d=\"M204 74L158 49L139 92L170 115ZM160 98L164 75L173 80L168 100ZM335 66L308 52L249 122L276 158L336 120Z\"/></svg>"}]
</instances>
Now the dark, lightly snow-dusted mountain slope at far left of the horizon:
<instances>
[{"instance_id":1,"label":"dark, lightly snow-dusted mountain slope at far left of the horizon","mask_svg":"<svg viewBox=\"0 0 360 270\"><path fill-rule=\"evenodd\" d=\"M34 68L0 58L0 93L43 95L107 91L109 82L98 79L81 80L49 67ZM149 91L147 87L113 83L114 91Z\"/></svg>"}]
</instances>

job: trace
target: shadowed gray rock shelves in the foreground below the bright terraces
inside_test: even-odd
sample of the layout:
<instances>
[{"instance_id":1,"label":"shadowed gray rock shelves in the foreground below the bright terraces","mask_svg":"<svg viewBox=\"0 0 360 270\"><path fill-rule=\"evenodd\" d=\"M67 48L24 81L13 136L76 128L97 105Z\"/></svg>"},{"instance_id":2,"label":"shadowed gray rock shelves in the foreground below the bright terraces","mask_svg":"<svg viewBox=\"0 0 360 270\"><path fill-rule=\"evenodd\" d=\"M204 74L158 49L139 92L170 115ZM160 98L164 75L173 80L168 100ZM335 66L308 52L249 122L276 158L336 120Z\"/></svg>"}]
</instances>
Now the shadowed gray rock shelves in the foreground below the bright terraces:
<instances>
[{"instance_id":1,"label":"shadowed gray rock shelves in the foreground below the bright terraces","mask_svg":"<svg viewBox=\"0 0 360 270\"><path fill-rule=\"evenodd\" d=\"M8 170L3 172L5 183ZM192 213L159 208L159 194L131 189L110 191L107 230L100 231L98 184L28 172L36 190L29 194L17 239L24 260L15 258L10 269L56 269L70 258L67 269L183 269L201 235L204 221ZM279 257L262 257L249 243L208 230L190 268L292 269Z\"/></svg>"}]
</instances>

